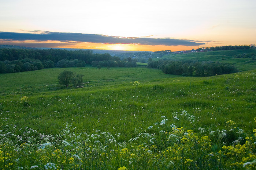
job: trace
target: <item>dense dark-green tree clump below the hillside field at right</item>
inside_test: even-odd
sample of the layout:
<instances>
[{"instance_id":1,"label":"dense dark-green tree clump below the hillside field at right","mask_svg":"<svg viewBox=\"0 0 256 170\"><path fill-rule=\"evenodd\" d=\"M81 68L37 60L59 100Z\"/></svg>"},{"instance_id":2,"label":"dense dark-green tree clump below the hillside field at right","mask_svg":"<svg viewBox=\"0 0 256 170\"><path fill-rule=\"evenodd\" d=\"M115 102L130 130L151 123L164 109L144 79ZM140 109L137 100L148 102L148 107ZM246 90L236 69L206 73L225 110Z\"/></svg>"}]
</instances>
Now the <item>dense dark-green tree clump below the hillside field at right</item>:
<instances>
[{"instance_id":1,"label":"dense dark-green tree clump below the hillside field at right","mask_svg":"<svg viewBox=\"0 0 256 170\"><path fill-rule=\"evenodd\" d=\"M230 74L238 72L233 65L229 63L220 63L219 61L171 61L171 60L149 60L148 66L158 68L166 74L175 74L182 76L214 76L220 74Z\"/></svg>"}]
</instances>

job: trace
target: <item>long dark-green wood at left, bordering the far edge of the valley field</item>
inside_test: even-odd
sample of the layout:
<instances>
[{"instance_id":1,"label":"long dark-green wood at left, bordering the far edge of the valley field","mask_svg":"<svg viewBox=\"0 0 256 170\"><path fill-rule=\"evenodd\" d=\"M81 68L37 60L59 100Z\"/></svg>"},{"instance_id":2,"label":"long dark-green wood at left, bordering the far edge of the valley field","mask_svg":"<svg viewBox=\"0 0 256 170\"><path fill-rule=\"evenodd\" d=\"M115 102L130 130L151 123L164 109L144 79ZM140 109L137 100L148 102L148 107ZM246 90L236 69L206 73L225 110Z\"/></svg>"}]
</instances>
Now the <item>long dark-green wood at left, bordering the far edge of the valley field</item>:
<instances>
[{"instance_id":1,"label":"long dark-green wood at left, bordering the far edge of the valley field","mask_svg":"<svg viewBox=\"0 0 256 170\"><path fill-rule=\"evenodd\" d=\"M92 50L0 49L0 73L16 73L52 67L84 67L97 63L100 67L135 67L136 61L110 54L94 54Z\"/></svg>"}]
</instances>

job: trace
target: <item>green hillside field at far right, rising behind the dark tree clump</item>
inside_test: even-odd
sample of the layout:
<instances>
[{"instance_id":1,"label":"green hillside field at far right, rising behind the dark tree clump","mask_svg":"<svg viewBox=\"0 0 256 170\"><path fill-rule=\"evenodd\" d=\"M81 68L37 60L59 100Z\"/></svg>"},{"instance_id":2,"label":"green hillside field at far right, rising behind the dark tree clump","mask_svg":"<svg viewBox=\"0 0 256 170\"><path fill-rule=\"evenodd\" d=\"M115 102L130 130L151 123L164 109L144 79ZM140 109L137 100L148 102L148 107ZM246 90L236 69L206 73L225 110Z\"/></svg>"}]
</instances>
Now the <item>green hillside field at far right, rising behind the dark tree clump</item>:
<instances>
[{"instance_id":1,"label":"green hillside field at far right, rising behind the dark tree clump","mask_svg":"<svg viewBox=\"0 0 256 170\"><path fill-rule=\"evenodd\" d=\"M222 51L208 51L208 52L197 52L197 53L181 53L181 54L170 54L164 55L159 59L172 59L172 60L198 60L198 61L219 61L223 63L233 64L240 71L256 69L256 60L252 58L233 58L232 56L244 53L256 53L255 49L248 50L222 50Z\"/></svg>"}]
</instances>

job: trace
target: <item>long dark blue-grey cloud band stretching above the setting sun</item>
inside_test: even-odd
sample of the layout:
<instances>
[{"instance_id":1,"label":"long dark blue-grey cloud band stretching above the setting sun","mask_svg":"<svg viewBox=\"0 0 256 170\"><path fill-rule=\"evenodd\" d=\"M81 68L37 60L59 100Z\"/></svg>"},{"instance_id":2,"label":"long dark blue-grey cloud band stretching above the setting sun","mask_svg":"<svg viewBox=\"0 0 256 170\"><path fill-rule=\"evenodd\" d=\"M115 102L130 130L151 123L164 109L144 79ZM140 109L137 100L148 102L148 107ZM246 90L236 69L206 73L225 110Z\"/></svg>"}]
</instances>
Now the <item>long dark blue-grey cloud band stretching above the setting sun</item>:
<instances>
[{"instance_id":1,"label":"long dark blue-grey cloud band stretching above the setting sun","mask_svg":"<svg viewBox=\"0 0 256 170\"><path fill-rule=\"evenodd\" d=\"M31 33L33 32L33 33ZM206 41L196 41L175 38L145 38L145 37L121 37L101 34L81 34L68 32L31 31L30 33L0 32L3 40L36 40L36 41L60 41L60 42L91 42L108 44L140 44L140 45L165 45L165 46L199 46ZM209 41L207 41L209 42Z\"/></svg>"}]
</instances>

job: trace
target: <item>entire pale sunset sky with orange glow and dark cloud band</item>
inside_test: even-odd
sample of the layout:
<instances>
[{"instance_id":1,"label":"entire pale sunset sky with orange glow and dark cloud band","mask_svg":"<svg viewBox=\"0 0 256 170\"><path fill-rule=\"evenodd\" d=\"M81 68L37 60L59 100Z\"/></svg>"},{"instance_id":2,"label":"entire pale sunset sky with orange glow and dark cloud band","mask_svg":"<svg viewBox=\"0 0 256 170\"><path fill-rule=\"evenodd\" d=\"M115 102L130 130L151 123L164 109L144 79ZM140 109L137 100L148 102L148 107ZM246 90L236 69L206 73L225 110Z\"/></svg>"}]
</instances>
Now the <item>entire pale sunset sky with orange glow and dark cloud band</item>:
<instances>
[{"instance_id":1,"label":"entire pale sunset sky with orange glow and dark cloud band","mask_svg":"<svg viewBox=\"0 0 256 170\"><path fill-rule=\"evenodd\" d=\"M192 50L256 44L256 0L0 0L0 44Z\"/></svg>"}]
</instances>

